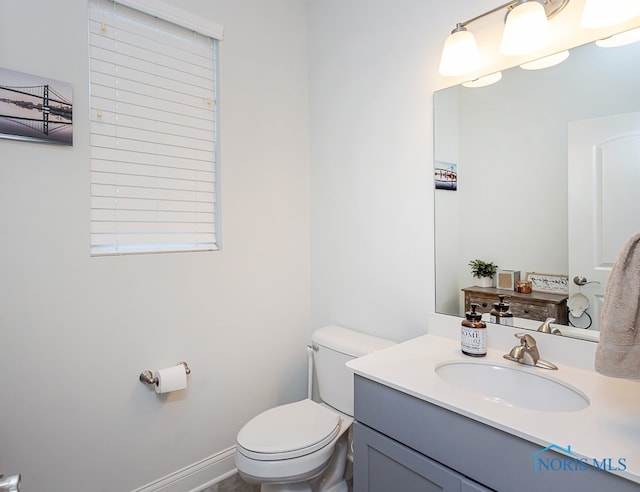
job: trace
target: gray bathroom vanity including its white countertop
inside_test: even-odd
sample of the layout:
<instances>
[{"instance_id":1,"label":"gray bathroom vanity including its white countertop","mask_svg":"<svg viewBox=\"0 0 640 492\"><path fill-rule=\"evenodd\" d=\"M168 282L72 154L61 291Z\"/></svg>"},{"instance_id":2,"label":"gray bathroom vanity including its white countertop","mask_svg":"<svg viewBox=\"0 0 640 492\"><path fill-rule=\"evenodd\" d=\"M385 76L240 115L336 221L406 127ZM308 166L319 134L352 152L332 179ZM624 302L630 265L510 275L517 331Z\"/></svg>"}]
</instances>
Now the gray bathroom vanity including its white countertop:
<instances>
[{"instance_id":1,"label":"gray bathroom vanity including its white countertop","mask_svg":"<svg viewBox=\"0 0 640 492\"><path fill-rule=\"evenodd\" d=\"M350 362L354 491L640 490L640 383L562 364L525 367L502 352L472 359L458 340L425 335ZM451 363L542 371L586 404L573 411L506 404L442 380L438 367Z\"/></svg>"}]
</instances>

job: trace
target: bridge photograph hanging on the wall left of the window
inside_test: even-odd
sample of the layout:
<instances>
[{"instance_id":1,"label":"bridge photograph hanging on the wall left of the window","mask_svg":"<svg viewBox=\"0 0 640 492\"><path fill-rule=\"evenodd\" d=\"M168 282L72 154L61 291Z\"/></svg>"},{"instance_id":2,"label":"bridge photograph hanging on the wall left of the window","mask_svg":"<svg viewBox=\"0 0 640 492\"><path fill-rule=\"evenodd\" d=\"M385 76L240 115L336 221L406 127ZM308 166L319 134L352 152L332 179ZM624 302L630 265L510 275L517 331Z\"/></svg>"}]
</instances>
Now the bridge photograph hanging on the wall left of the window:
<instances>
[{"instance_id":1,"label":"bridge photograph hanging on the wall left of the window","mask_svg":"<svg viewBox=\"0 0 640 492\"><path fill-rule=\"evenodd\" d=\"M0 138L73 145L71 84L0 68Z\"/></svg>"}]
</instances>

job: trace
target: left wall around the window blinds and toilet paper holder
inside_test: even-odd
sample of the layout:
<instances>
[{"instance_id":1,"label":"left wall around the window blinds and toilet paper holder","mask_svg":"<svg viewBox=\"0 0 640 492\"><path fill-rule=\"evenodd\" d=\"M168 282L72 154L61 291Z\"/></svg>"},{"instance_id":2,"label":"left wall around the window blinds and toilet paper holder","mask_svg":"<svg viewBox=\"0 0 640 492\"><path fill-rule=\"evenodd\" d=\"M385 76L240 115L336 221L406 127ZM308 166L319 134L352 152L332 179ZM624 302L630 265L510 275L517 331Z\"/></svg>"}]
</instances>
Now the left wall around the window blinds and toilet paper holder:
<instances>
[{"instance_id":1,"label":"left wall around the window blinds and toilet paper holder","mask_svg":"<svg viewBox=\"0 0 640 492\"><path fill-rule=\"evenodd\" d=\"M91 258L84 0L0 2L0 66L70 82L74 145L0 140L0 473L125 491L306 394L307 4L181 0L224 24L223 249ZM186 360L187 391L144 369Z\"/></svg>"}]
</instances>

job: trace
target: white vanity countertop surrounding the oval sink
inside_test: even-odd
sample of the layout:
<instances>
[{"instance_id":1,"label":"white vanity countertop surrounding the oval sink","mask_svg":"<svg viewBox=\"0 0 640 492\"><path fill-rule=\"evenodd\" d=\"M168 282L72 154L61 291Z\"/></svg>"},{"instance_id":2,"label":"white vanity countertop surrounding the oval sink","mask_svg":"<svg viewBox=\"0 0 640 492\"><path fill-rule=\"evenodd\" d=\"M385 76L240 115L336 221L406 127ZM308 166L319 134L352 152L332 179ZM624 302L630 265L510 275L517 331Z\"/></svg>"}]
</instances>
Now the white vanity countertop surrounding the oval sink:
<instances>
[{"instance_id":1,"label":"white vanity countertop surrounding the oval sink","mask_svg":"<svg viewBox=\"0 0 640 492\"><path fill-rule=\"evenodd\" d=\"M514 338L512 345L516 342ZM486 357L468 357L461 353L459 340L428 334L354 359L347 366L356 374L539 444L541 449L552 444L571 446L573 457L586 458L590 464L594 458L599 462L613 458L613 464L623 458L626 470L612 473L640 483L640 382L560 364L542 349L541 357L558 370L525 366L502 357L510 348L489 348ZM435 367L448 361L512 365L574 386L588 396L590 404L573 412L508 406L440 379Z\"/></svg>"}]
</instances>

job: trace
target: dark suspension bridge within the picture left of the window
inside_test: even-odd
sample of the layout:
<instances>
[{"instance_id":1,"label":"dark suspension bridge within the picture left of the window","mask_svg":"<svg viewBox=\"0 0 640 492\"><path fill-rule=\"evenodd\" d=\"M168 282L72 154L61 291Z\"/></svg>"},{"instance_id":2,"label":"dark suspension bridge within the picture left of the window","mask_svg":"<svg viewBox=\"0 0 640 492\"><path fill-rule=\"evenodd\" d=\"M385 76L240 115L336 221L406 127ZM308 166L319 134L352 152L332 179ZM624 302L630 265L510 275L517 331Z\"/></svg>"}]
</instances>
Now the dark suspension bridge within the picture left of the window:
<instances>
[{"instance_id":1,"label":"dark suspension bridge within the picture left of the window","mask_svg":"<svg viewBox=\"0 0 640 492\"><path fill-rule=\"evenodd\" d=\"M72 101L49 84L0 85L0 119L10 120L44 136L69 129L73 123L72 109Z\"/></svg>"}]
</instances>

